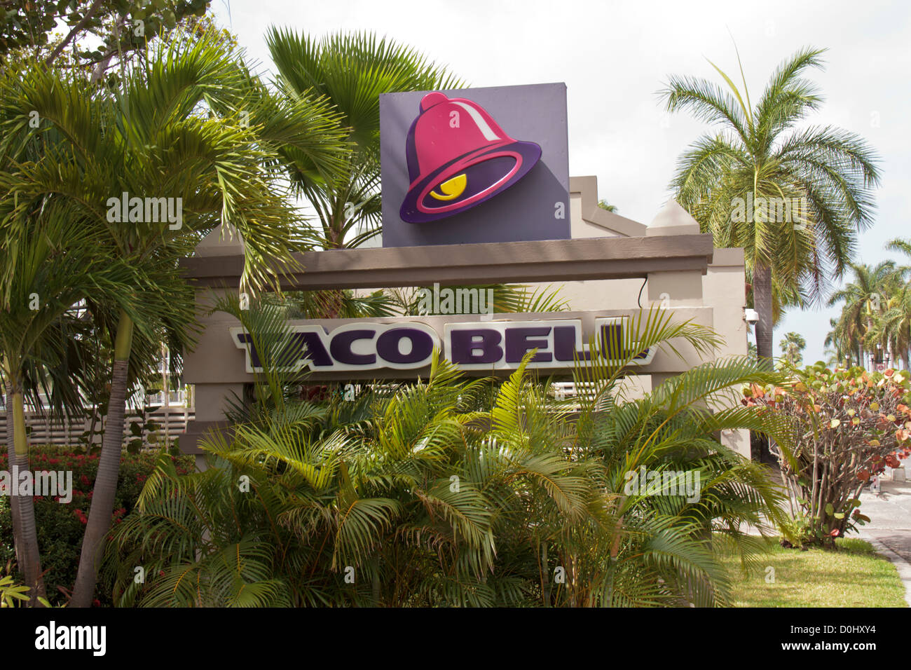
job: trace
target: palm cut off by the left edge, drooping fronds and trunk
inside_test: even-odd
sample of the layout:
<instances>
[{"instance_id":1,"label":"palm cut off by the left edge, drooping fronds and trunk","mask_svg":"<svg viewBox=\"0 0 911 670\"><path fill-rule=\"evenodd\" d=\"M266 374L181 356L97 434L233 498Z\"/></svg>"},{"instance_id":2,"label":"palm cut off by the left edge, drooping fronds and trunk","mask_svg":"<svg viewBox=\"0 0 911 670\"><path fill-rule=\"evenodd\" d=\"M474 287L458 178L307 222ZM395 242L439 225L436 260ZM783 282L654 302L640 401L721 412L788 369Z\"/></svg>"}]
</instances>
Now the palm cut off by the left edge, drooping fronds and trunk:
<instances>
[{"instance_id":1,"label":"palm cut off by the left edge, drooping fronds and trunk","mask_svg":"<svg viewBox=\"0 0 911 670\"><path fill-rule=\"evenodd\" d=\"M8 176L3 172L0 181ZM6 387L7 438L13 446L9 462L30 475L24 399L26 388L35 395L37 388L34 378L29 384L27 377L67 356L70 342L60 325L73 304L92 295L118 304L135 318L141 308L128 288L144 280L131 264L98 254L106 232L97 222L72 216L54 198L14 204L15 195L13 191L13 197L0 202L0 266L7 273L0 292L0 376ZM31 495L15 495L13 501L19 568L34 604L44 595L44 583L33 500Z\"/></svg>"}]
</instances>

